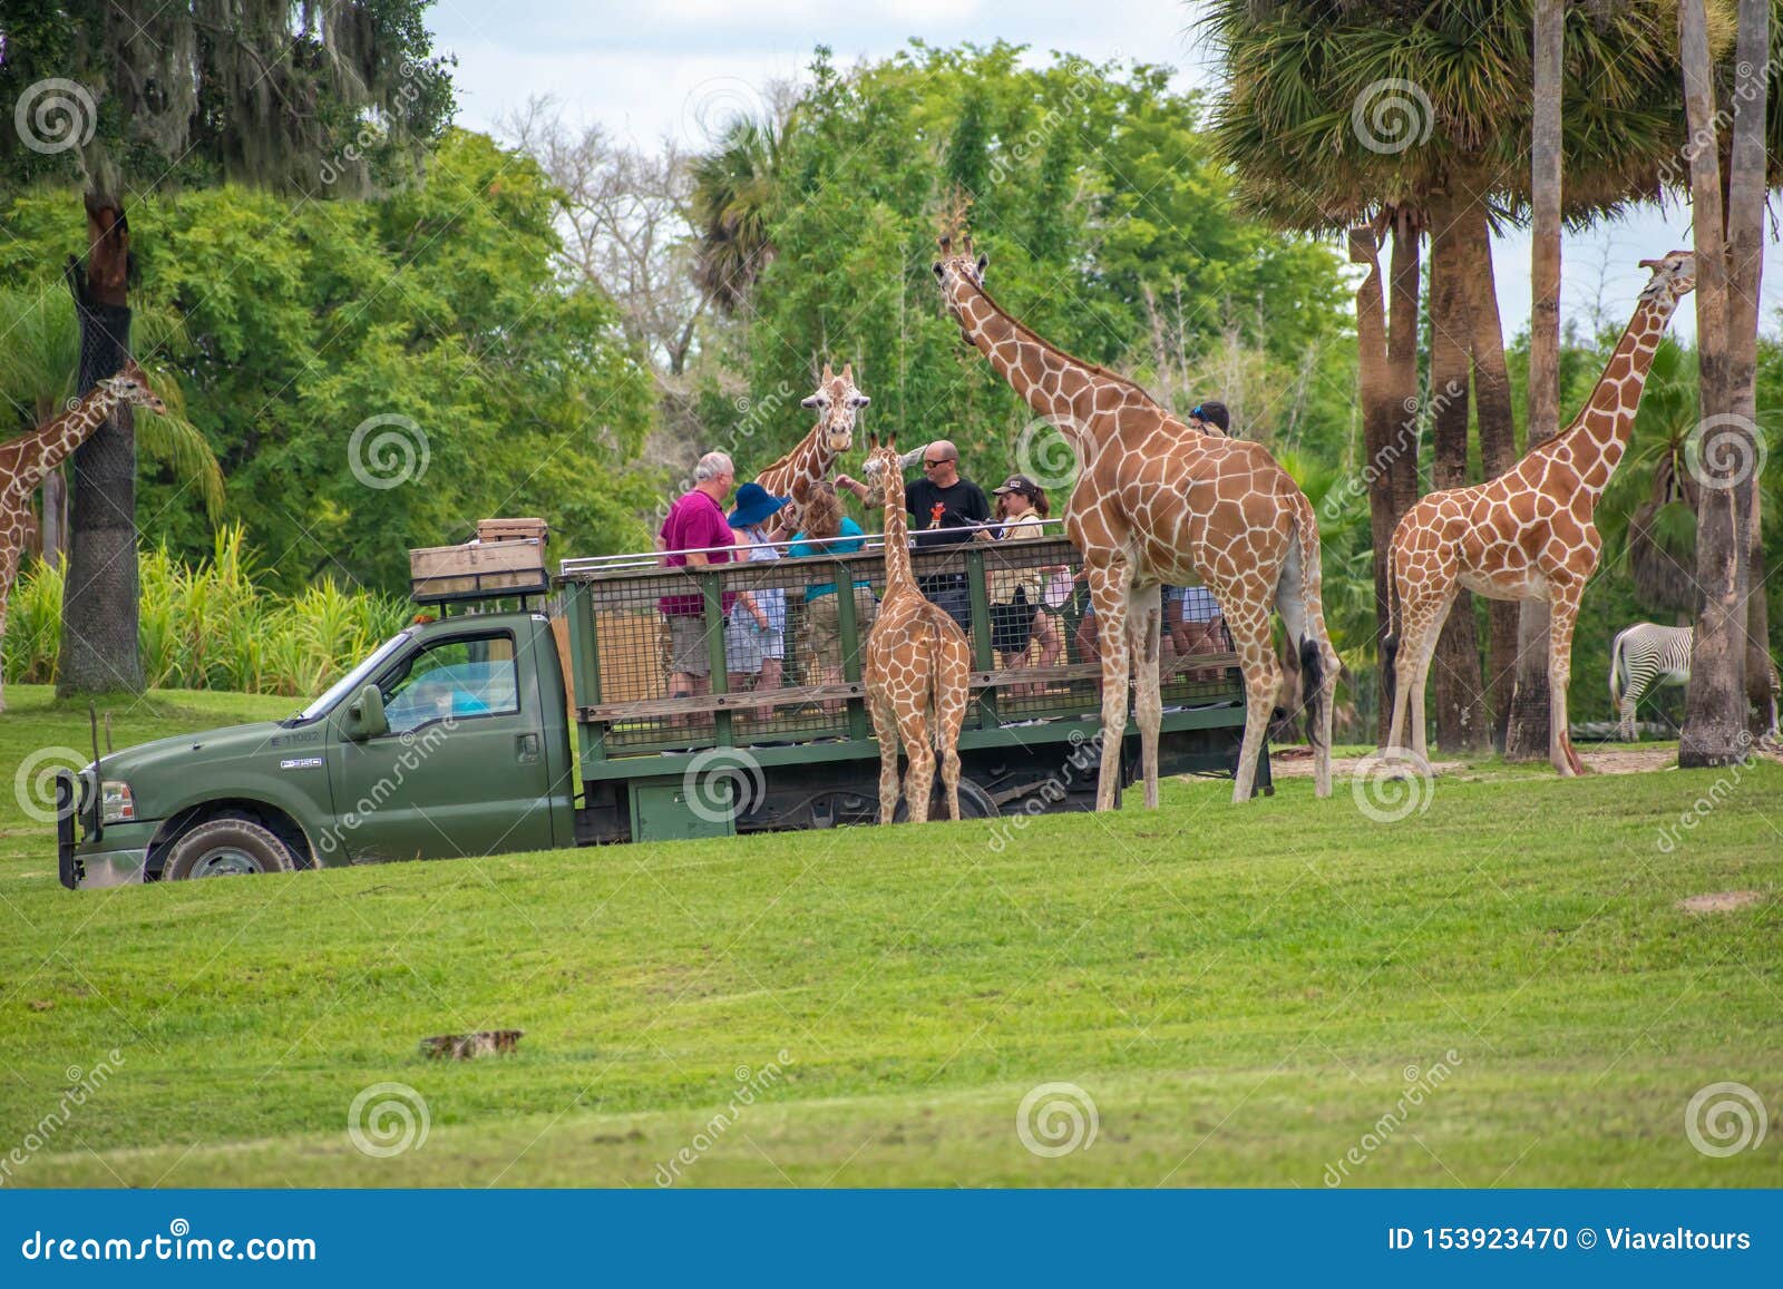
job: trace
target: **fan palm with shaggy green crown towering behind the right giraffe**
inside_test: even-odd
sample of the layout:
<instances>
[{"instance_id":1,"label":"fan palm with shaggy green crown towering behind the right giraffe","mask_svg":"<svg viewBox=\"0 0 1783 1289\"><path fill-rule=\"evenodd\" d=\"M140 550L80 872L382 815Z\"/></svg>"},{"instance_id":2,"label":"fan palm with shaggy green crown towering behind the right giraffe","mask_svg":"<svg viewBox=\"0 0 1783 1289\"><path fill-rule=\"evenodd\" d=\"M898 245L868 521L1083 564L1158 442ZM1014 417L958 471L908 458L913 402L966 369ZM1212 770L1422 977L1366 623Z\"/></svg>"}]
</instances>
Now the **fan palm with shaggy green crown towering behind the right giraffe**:
<instances>
[{"instance_id":1,"label":"fan palm with shaggy green crown towering behind the right giraffe","mask_svg":"<svg viewBox=\"0 0 1783 1289\"><path fill-rule=\"evenodd\" d=\"M1467 476L1469 383L1485 471L1516 456L1491 230L1521 218L1532 200L1533 4L1211 0L1204 18L1228 73L1214 132L1250 209L1307 232L1401 210L1430 228L1437 487ZM1669 178L1665 166L1681 143L1676 36L1665 5L1594 5L1567 16L1567 218L1615 210ZM1364 348L1362 360L1385 358ZM1500 610L1492 633L1500 715L1514 622L1514 610ZM1480 692L1473 615L1457 603L1439 644L1444 747L1483 742Z\"/></svg>"}]
</instances>

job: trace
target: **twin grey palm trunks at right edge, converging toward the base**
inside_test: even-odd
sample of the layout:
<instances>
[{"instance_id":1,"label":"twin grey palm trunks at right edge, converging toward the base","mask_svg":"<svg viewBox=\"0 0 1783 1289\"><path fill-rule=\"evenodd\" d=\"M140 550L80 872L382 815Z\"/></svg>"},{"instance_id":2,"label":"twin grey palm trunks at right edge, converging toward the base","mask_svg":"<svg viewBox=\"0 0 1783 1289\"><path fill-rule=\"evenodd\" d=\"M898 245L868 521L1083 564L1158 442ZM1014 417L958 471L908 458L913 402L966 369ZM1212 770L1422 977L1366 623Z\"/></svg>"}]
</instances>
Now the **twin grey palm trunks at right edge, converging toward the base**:
<instances>
[{"instance_id":1,"label":"twin grey palm trunks at right edge, converging toward the base","mask_svg":"<svg viewBox=\"0 0 1783 1289\"><path fill-rule=\"evenodd\" d=\"M1696 579L1703 588L1703 615L1696 624L1685 724L1678 740L1678 763L1685 767L1730 765L1742 759L1747 751L1746 588L1751 540L1746 524L1753 515L1753 505L1751 494L1744 489L1756 483L1751 469L1756 460L1751 417L1758 300L1756 294L1749 300L1742 300L1740 294L1747 283L1756 289L1758 264L1742 264L1737 253L1733 259L1740 266L1740 280L1730 282L1726 251L1733 242L1749 255L1762 232L1767 20L1765 0L1756 4L1740 0L1735 61L1746 73L1735 82L1733 148L1724 210L1713 66L1703 0L1683 0L1678 5L1685 118L1690 137L1701 141L1690 155L1690 223L1696 234L1696 328L1703 412L1697 437L1705 447L1696 456L1703 485L1696 526ZM1753 64L1754 50L1756 64ZM1751 102L1754 78L1756 105ZM1738 478L1742 460L1744 483Z\"/></svg>"}]
</instances>

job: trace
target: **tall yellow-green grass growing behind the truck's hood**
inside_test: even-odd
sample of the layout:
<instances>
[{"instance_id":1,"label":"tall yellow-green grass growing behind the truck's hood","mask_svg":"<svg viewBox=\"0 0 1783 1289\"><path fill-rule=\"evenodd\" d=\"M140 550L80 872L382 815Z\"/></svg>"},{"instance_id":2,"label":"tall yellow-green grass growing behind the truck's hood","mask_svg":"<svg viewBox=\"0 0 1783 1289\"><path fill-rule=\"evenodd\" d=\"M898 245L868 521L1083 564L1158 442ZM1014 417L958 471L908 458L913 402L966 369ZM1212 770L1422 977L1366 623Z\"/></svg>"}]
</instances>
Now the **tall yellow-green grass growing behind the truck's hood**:
<instances>
[{"instance_id":1,"label":"tall yellow-green grass growing behind the truck's hood","mask_svg":"<svg viewBox=\"0 0 1783 1289\"><path fill-rule=\"evenodd\" d=\"M141 554L137 642L153 688L319 694L408 622L407 601L342 590L333 581L298 595L262 590L241 528L218 533L210 558ZM12 588L5 679L55 681L62 636L62 567L34 565Z\"/></svg>"}]
</instances>

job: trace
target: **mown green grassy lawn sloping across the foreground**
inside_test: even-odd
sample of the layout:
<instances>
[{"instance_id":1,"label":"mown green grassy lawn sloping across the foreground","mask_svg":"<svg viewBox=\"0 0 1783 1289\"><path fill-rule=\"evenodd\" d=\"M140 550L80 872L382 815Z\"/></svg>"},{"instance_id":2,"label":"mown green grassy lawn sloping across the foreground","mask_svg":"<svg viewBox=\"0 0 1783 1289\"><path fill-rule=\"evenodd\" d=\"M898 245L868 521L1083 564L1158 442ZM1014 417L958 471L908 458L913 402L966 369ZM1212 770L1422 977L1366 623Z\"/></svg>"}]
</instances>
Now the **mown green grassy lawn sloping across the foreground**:
<instances>
[{"instance_id":1,"label":"mown green grassy lawn sloping across the foreground","mask_svg":"<svg viewBox=\"0 0 1783 1289\"><path fill-rule=\"evenodd\" d=\"M7 701L7 765L86 745ZM123 745L294 704L116 706ZM0 1159L112 1066L0 1182L654 1186L686 1150L694 1186L1783 1184L1783 767L1469 763L1391 824L1344 781L1228 792L91 893L0 793ZM1712 1159L1685 1105L1721 1080L1772 1125ZM380 1082L430 1121L394 1157L348 1136ZM1048 1082L1088 1148L1023 1146Z\"/></svg>"}]
</instances>

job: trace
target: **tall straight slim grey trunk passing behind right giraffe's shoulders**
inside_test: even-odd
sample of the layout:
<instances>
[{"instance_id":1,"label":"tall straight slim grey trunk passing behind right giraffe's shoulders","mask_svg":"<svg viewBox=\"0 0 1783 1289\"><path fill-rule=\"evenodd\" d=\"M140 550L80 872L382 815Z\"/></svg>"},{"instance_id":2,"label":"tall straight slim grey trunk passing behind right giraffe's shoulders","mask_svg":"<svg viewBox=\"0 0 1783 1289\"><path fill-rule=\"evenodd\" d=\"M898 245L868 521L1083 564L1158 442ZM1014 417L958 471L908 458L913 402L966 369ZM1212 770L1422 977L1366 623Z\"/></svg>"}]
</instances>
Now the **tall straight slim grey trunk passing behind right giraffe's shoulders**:
<instances>
[{"instance_id":1,"label":"tall straight slim grey trunk passing behind right giraffe's shoulders","mask_svg":"<svg viewBox=\"0 0 1783 1289\"><path fill-rule=\"evenodd\" d=\"M1530 139L1530 426L1526 447L1560 433L1560 93L1565 0L1535 0L1535 91ZM1505 759L1548 759L1548 603L1517 606L1517 681Z\"/></svg>"}]
</instances>

